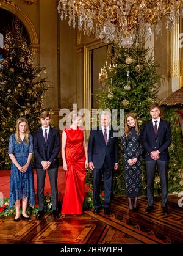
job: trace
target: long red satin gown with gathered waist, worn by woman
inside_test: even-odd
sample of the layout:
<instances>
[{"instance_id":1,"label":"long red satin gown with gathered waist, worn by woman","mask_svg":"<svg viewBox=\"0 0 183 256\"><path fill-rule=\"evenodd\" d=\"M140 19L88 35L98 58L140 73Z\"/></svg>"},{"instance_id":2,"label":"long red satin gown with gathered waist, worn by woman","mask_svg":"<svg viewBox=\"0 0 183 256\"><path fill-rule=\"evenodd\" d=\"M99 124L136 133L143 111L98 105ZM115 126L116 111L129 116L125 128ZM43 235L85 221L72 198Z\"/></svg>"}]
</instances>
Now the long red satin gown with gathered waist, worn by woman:
<instances>
[{"instance_id":1,"label":"long red satin gown with gathered waist, worn by woman","mask_svg":"<svg viewBox=\"0 0 183 256\"><path fill-rule=\"evenodd\" d=\"M73 130L68 127L66 133L65 158L68 171L65 172L65 194L62 214L82 214L85 184L85 152L83 147L84 129Z\"/></svg>"}]
</instances>

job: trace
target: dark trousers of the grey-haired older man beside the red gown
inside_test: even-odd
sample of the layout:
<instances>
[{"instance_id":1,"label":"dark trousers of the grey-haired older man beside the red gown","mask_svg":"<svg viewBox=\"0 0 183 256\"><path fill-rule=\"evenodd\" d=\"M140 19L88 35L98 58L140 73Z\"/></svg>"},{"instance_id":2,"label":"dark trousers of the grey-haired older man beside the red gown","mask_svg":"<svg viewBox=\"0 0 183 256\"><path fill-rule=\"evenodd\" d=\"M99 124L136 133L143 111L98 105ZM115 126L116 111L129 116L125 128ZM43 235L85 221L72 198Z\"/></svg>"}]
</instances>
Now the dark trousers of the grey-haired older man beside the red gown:
<instances>
[{"instance_id":1,"label":"dark trousers of the grey-haired older man beside the red gown","mask_svg":"<svg viewBox=\"0 0 183 256\"><path fill-rule=\"evenodd\" d=\"M103 207L107 208L110 205L111 192L112 192L112 174L113 169L107 167L106 161L101 169L93 169L93 202L94 207L101 207L100 203L100 189L101 189L101 180L104 177L104 203Z\"/></svg>"}]
</instances>

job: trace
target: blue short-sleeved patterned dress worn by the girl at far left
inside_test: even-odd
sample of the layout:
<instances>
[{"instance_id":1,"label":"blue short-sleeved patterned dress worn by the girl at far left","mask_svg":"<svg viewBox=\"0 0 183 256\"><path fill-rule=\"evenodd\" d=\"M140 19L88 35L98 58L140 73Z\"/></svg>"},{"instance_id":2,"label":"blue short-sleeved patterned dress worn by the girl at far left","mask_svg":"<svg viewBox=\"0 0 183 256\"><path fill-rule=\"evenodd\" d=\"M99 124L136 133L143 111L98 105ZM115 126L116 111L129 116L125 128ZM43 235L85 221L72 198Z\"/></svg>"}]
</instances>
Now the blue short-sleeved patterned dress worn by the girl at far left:
<instances>
[{"instance_id":1,"label":"blue short-sleeved patterned dress worn by the girl at far left","mask_svg":"<svg viewBox=\"0 0 183 256\"><path fill-rule=\"evenodd\" d=\"M9 141L9 154L15 155L20 166L24 166L27 163L29 153L33 153L32 136L29 135L29 144L27 144L24 140L18 143L15 134L12 134ZM23 173L12 163L9 197L10 208L13 207L16 200L22 199L23 197L29 197L30 205L35 205L34 174L32 166L30 164L27 171Z\"/></svg>"}]
</instances>

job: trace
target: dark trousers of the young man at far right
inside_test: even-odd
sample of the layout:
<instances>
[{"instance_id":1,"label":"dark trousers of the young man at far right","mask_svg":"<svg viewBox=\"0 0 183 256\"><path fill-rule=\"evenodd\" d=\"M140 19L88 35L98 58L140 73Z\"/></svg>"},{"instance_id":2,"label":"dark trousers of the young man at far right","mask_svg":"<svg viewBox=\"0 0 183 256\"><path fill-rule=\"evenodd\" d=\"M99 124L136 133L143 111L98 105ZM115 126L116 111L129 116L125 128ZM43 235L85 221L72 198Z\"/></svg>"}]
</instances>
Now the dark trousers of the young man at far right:
<instances>
[{"instance_id":1,"label":"dark trousers of the young man at far right","mask_svg":"<svg viewBox=\"0 0 183 256\"><path fill-rule=\"evenodd\" d=\"M162 160L146 161L148 205L152 206L154 203L154 178L156 173L156 165L158 167L160 176L162 207L165 207L167 206L168 201L168 161Z\"/></svg>"}]
</instances>

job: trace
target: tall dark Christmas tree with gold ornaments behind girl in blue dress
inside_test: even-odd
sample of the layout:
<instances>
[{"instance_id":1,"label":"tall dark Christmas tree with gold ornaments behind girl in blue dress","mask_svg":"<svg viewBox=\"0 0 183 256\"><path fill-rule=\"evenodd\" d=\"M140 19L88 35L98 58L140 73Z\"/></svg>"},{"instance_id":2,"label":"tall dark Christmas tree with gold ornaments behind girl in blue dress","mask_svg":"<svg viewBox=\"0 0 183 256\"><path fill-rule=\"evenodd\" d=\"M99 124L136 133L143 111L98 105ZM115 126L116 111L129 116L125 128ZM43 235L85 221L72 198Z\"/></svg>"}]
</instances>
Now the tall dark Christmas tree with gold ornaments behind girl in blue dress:
<instances>
[{"instance_id":1,"label":"tall dark Christmas tree with gold ornaments behind girl in blue dress","mask_svg":"<svg viewBox=\"0 0 183 256\"><path fill-rule=\"evenodd\" d=\"M0 169L10 168L9 136L15 131L16 119L26 117L32 134L37 130L46 79L45 68L34 65L33 52L18 21L6 32L0 60ZM45 74L43 74L45 75Z\"/></svg>"}]
</instances>

